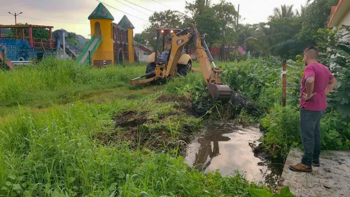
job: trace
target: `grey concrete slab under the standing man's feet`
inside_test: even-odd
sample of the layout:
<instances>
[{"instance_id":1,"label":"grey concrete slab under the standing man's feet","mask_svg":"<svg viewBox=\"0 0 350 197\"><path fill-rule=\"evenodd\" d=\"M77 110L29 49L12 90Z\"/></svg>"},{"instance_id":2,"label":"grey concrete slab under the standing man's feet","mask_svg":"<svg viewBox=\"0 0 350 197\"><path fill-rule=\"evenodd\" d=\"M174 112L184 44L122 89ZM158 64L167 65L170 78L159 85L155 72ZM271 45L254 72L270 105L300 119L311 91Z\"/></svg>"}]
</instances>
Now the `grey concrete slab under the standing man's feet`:
<instances>
[{"instance_id":1,"label":"grey concrete slab under the standing man's feet","mask_svg":"<svg viewBox=\"0 0 350 197\"><path fill-rule=\"evenodd\" d=\"M289 186L295 197L350 197L350 151L324 151L321 166L310 173L289 170L302 154L298 148L289 151L279 189Z\"/></svg>"}]
</instances>

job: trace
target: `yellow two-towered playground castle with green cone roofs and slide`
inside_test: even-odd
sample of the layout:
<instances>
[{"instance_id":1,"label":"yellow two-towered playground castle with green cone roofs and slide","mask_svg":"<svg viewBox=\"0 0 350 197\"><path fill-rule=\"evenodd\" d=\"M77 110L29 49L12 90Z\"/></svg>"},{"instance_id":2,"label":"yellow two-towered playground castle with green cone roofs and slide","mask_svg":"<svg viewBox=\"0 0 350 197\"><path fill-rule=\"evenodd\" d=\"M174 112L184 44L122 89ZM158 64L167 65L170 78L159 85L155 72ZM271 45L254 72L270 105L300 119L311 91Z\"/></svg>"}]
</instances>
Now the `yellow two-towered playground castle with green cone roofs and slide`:
<instances>
[{"instance_id":1,"label":"yellow two-towered playground castle with green cone roofs and slide","mask_svg":"<svg viewBox=\"0 0 350 197\"><path fill-rule=\"evenodd\" d=\"M134 26L124 15L119 23L108 9L99 3L88 17L91 27L91 40L77 57L80 64L104 67L123 61L134 62Z\"/></svg>"}]
</instances>

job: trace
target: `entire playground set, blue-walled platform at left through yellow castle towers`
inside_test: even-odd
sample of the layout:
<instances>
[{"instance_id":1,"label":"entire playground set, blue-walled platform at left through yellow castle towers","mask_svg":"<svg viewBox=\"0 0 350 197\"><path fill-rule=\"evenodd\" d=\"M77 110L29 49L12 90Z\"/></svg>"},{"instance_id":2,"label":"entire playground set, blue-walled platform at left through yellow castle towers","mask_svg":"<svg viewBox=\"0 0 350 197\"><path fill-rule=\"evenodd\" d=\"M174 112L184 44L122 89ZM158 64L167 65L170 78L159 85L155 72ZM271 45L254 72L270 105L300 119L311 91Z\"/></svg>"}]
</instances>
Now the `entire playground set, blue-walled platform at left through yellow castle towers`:
<instances>
[{"instance_id":1,"label":"entire playground set, blue-walled platform at left through yellow castle towers","mask_svg":"<svg viewBox=\"0 0 350 197\"><path fill-rule=\"evenodd\" d=\"M101 68L109 64L138 60L134 46L146 53L152 53L151 50L133 41L134 26L125 15L119 23L114 23L112 14L102 3L99 3L88 19L90 20L91 39L84 49L63 41L62 30L55 32L55 40L53 40L53 26L0 25L0 45L7 48L7 53L1 53L1 58L6 56L9 61L23 61L24 63L30 60L41 60L48 55L56 56L59 49L64 48L65 52L72 59L76 59L77 63ZM1 28L13 28L15 36L1 37ZM48 29L49 39L34 38L33 29L35 28ZM28 33L25 33L25 29L28 29L26 30Z\"/></svg>"}]
</instances>

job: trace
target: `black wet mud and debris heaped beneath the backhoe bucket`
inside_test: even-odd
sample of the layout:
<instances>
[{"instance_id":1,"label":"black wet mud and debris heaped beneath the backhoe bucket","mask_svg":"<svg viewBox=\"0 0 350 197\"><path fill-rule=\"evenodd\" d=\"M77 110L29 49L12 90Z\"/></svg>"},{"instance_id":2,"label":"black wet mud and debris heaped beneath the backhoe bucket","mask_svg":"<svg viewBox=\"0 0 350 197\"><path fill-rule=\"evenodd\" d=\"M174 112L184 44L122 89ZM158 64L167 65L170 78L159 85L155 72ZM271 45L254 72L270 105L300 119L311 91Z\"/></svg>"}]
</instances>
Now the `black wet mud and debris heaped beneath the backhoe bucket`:
<instances>
[{"instance_id":1,"label":"black wet mud and debris heaped beneath the backhoe bucket","mask_svg":"<svg viewBox=\"0 0 350 197\"><path fill-rule=\"evenodd\" d=\"M211 99L203 98L191 105L191 113L196 117L205 117L207 111L209 111L214 105ZM224 108L229 112L228 118L234 118L240 114L240 111L244 108L249 114L257 111L257 104L249 100L247 96L241 94L238 91L231 90L231 99L228 103L224 104Z\"/></svg>"}]
</instances>

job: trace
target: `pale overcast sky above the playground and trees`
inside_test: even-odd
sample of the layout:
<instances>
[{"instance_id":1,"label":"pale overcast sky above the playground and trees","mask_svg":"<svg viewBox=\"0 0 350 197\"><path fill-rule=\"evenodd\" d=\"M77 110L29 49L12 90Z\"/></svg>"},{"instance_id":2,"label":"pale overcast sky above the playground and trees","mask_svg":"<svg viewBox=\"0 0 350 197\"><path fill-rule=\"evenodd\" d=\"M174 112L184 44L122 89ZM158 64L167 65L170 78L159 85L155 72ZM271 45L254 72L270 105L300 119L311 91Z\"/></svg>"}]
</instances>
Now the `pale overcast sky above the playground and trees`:
<instances>
[{"instance_id":1,"label":"pale overcast sky above the playground and trees","mask_svg":"<svg viewBox=\"0 0 350 197\"><path fill-rule=\"evenodd\" d=\"M30 23L34 25L54 26L56 29L66 29L69 32L75 32L88 37L90 34L90 25L87 17L99 4L96 0L1 0L0 6L0 24L14 24L14 16L8 12L23 14L17 17L17 22ZM148 17L152 15L151 11L164 11L166 9L184 12L186 0L156 0L164 5L158 4L153 0L100 0L105 4L113 6L120 11L107 7L114 16L114 22L118 23L125 13L129 20L135 26L134 33L140 33L149 25ZM118 2L119 1L119 2ZM141 7L133 5L132 2ZM191 2L193 0L187 0ZM267 17L272 14L273 8L281 4L294 5L294 8L300 9L301 4L306 4L306 0L226 0L235 5L238 4L239 14L242 20L240 23L258 23L267 21ZM219 0L212 0L216 4ZM123 5L125 4L125 5ZM127 6L126 6L127 5ZM130 6L130 7L128 7ZM125 13L123 13L123 12ZM129 15L131 14L131 15ZM134 16L138 18L135 18ZM143 20L141 20L143 19ZM146 20L146 21L144 21Z\"/></svg>"}]
</instances>

